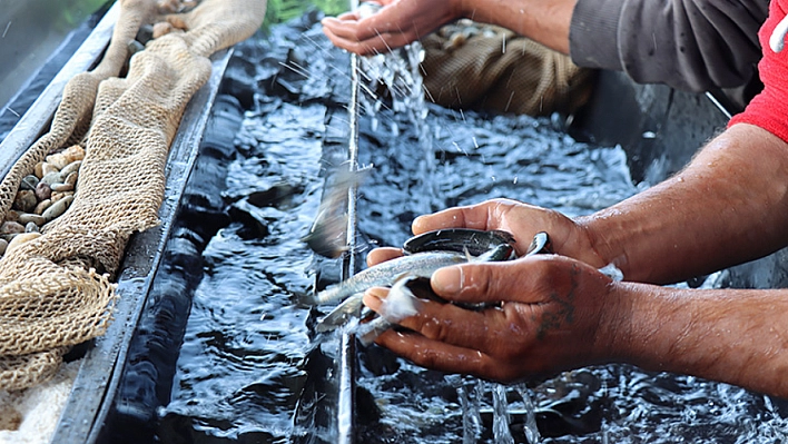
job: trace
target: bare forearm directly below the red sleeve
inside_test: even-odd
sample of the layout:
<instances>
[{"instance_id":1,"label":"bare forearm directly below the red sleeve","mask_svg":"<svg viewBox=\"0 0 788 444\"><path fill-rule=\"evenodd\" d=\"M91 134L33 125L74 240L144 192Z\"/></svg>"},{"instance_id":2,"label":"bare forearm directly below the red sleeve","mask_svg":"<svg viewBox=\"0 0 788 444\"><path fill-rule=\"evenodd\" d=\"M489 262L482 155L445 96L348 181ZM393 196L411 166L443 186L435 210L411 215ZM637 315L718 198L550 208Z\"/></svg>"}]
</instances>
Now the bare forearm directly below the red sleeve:
<instances>
[{"instance_id":1,"label":"bare forearm directly below the red sleeve","mask_svg":"<svg viewBox=\"0 0 788 444\"><path fill-rule=\"evenodd\" d=\"M627 280L659 284L772 253L788 244L786 221L788 145L749 125L664 182L578 219L601 262Z\"/></svg>"}]
</instances>

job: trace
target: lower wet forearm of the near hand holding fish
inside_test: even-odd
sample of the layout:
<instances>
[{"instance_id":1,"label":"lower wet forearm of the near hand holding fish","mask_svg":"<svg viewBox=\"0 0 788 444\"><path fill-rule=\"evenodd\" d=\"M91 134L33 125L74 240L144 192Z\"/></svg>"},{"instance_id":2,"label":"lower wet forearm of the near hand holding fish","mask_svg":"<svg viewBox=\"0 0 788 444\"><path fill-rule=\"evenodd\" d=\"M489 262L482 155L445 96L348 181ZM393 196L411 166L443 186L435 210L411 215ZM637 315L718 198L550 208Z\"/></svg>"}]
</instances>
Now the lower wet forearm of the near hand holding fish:
<instances>
[{"instance_id":1,"label":"lower wet forearm of the near hand holding fish","mask_svg":"<svg viewBox=\"0 0 788 444\"><path fill-rule=\"evenodd\" d=\"M788 397L788 290L619 289L615 329L598 344L620 353L608 358Z\"/></svg>"}]
</instances>

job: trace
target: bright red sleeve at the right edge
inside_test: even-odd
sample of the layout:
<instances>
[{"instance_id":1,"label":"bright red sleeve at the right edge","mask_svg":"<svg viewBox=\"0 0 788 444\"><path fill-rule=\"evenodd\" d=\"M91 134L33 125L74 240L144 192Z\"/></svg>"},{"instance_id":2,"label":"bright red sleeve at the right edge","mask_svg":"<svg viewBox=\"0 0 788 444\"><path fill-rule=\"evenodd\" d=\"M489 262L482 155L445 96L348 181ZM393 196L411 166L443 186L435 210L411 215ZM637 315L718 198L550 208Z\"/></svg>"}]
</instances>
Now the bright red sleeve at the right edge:
<instances>
[{"instance_id":1,"label":"bright red sleeve at the right edge","mask_svg":"<svg viewBox=\"0 0 788 444\"><path fill-rule=\"evenodd\" d=\"M769 18L758 32L764 58L758 63L764 91L756 96L741 114L733 116L728 126L756 125L788 142L788 42L780 52L769 47L769 38L781 20L786 19L788 0L772 0Z\"/></svg>"}]
</instances>

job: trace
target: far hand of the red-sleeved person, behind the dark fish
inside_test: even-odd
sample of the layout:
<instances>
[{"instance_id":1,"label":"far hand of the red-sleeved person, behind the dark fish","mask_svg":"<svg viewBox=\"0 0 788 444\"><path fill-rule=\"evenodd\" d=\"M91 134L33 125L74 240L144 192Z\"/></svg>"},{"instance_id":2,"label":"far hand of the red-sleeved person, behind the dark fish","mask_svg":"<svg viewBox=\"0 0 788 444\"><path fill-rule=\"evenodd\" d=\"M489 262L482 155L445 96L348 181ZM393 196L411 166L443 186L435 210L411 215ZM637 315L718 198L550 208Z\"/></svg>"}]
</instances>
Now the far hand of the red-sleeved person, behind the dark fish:
<instances>
[{"instance_id":1,"label":"far hand of the red-sleeved person, behind the dark fish","mask_svg":"<svg viewBox=\"0 0 788 444\"><path fill-rule=\"evenodd\" d=\"M413 221L413 234L443 228L502 229L514 235L518 256L525 254L533 236L546 231L553 253L583 260L594 267L608 265L593 249L581 225L561 213L510 199L449 208Z\"/></svg>"}]
</instances>

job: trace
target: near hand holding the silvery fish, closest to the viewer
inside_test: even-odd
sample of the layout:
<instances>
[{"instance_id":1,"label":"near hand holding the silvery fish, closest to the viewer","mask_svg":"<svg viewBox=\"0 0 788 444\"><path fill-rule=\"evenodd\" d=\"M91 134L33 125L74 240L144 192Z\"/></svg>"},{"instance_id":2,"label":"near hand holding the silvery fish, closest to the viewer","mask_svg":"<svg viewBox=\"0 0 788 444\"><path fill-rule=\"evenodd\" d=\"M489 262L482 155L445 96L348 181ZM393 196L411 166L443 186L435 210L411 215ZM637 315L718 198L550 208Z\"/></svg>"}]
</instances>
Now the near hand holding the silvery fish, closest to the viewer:
<instances>
[{"instance_id":1,"label":"near hand holding the silvery fish, closest to the viewer","mask_svg":"<svg viewBox=\"0 0 788 444\"><path fill-rule=\"evenodd\" d=\"M425 302L401 323L412 332L388 330L376 342L443 372L499 382L550 376L615 358L611 344L627 326L621 287L568 257L463 264L436 272L431 284L447 300L495 306ZM373 288L364 303L380 309L386 294Z\"/></svg>"}]
</instances>

